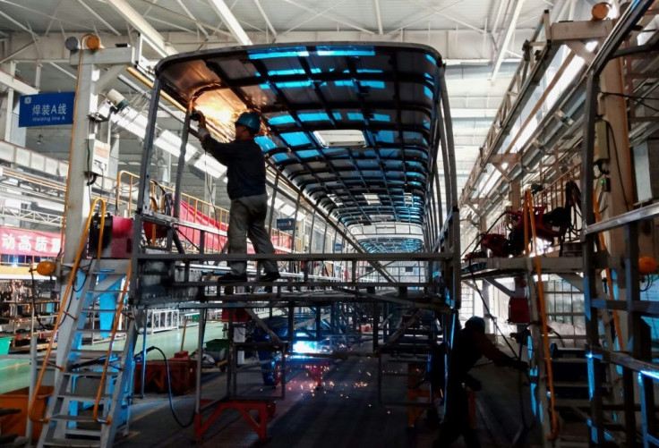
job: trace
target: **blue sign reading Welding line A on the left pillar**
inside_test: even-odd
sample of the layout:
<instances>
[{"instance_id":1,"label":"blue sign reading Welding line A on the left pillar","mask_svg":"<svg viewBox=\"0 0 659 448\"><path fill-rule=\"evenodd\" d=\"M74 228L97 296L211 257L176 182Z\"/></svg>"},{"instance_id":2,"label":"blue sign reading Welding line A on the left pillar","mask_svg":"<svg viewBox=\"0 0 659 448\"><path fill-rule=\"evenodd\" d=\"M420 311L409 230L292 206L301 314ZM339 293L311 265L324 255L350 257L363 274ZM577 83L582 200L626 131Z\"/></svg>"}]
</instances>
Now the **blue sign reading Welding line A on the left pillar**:
<instances>
[{"instance_id":1,"label":"blue sign reading Welding line A on the left pillar","mask_svg":"<svg viewBox=\"0 0 659 448\"><path fill-rule=\"evenodd\" d=\"M74 100L74 92L21 95L18 125L20 128L24 128L72 124Z\"/></svg>"}]
</instances>

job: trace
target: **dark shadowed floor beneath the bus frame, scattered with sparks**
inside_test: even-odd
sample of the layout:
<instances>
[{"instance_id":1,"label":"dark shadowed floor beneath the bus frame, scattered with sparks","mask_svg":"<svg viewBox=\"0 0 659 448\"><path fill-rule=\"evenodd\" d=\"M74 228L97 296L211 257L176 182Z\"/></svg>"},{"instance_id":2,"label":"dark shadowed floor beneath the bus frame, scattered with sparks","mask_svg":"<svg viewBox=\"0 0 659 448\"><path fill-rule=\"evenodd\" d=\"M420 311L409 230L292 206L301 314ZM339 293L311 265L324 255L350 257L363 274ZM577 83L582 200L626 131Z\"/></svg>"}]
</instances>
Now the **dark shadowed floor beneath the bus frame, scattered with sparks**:
<instances>
[{"instance_id":1,"label":"dark shadowed floor beneath the bus frame, scattered with sparks","mask_svg":"<svg viewBox=\"0 0 659 448\"><path fill-rule=\"evenodd\" d=\"M251 359L248 359L250 361ZM252 360L253 362L253 360ZM437 437L438 425L424 413L407 427L407 409L378 403L377 361L350 358L336 361L324 376L324 387L314 388L312 378L297 370L287 383L286 399L277 402L277 414L268 424L267 441L260 441L236 410L228 410L218 418L196 442L201 447L273 448L339 448L339 447L430 447ZM484 448L509 447L521 427L518 382L512 370L484 365L475 369L484 383L478 394L478 427ZM219 398L226 393L226 374L204 374L203 396ZM407 379L398 381L406 382ZM261 384L258 374L244 375L243 392L272 394L270 387ZM385 391L389 398L398 399L407 393L405 383ZM274 391L278 393L278 391ZM391 394L393 393L393 395ZM530 415L528 400L522 397L526 415ZM192 395L175 398L175 410L181 419L189 419L193 412ZM205 414L206 417L206 414ZM535 427L537 429L537 426ZM538 436L531 431L518 446L534 446ZM195 444L193 427L178 427L171 416L167 395L155 394L133 405L129 434L117 438L116 446L174 447ZM462 447L458 440L454 447Z\"/></svg>"}]
</instances>

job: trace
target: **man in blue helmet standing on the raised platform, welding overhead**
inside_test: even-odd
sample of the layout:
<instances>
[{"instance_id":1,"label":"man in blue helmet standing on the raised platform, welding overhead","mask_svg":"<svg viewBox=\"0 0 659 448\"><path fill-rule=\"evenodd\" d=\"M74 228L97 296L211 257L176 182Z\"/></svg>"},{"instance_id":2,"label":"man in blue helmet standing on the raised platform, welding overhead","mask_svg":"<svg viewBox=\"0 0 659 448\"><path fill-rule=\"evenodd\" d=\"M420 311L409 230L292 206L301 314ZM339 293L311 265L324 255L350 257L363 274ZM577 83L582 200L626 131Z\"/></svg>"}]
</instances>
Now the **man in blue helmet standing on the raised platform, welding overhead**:
<instances>
[{"instance_id":1,"label":"man in blue helmet standing on the raised platform, welding overhead","mask_svg":"<svg viewBox=\"0 0 659 448\"><path fill-rule=\"evenodd\" d=\"M270 234L265 230L265 217L268 211L268 193L265 190L265 157L254 136L261 129L259 115L244 112L235 121L235 140L220 143L210 137L203 114L199 120L201 146L227 166L227 193L231 199L229 228L227 231L228 251L231 254L247 253L247 236L254 250L260 254L274 254ZM247 262L232 261L231 272L219 278L220 283L245 282ZM273 282L279 278L277 263L263 262L265 274L263 282Z\"/></svg>"}]
</instances>

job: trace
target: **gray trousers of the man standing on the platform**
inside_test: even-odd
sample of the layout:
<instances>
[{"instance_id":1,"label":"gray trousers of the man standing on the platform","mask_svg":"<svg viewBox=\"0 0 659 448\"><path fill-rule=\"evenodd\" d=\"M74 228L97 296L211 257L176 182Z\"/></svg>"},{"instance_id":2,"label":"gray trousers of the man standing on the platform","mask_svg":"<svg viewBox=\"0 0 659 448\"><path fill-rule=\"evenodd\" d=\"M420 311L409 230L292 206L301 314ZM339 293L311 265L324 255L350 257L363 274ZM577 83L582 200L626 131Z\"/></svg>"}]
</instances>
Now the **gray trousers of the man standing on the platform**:
<instances>
[{"instance_id":1,"label":"gray trousers of the man standing on the platform","mask_svg":"<svg viewBox=\"0 0 659 448\"><path fill-rule=\"evenodd\" d=\"M247 237L252 241L256 253L273 254L270 235L265 230L265 216L268 213L268 195L244 196L231 200L229 214L228 248L230 254L247 253ZM272 260L262 262L266 273L278 272L277 263ZM246 261L231 262L231 272L243 275L247 268Z\"/></svg>"}]
</instances>

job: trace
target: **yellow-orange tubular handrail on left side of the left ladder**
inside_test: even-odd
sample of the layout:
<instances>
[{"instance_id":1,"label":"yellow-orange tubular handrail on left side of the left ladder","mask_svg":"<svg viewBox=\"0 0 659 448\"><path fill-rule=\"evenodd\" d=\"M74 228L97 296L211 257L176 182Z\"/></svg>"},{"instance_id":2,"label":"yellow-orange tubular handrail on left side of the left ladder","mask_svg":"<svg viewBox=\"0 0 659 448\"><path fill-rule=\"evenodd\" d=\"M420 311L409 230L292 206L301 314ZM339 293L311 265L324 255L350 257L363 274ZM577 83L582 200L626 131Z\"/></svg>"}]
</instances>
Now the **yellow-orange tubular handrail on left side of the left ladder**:
<instances>
[{"instance_id":1,"label":"yellow-orange tubular handrail on left side of the left ladder","mask_svg":"<svg viewBox=\"0 0 659 448\"><path fill-rule=\"evenodd\" d=\"M73 296L73 292L75 292L73 285L75 284L75 279L78 274L78 269L80 267L81 259L84 255L85 248L87 247L87 239L90 233L91 220L94 217L94 211L96 210L97 205L100 205L100 213L99 213L100 223L98 230L97 259L100 259L102 243L103 243L103 229L105 229L106 202L103 199L94 199L93 202L91 203L90 215L87 216L87 221L85 222L85 225L83 227L80 242L78 243L78 249L75 252L75 258L73 260L71 275L69 275L69 280L66 283L65 292L62 295L62 301L60 303L59 311L57 312L55 327L53 329L54 334L58 333L59 327L62 325L62 322L64 321L64 317L70 317L73 319L73 321L77 320L78 318L71 315L68 311L66 311L66 309L68 309L68 301L70 300L70 297ZM46 375L46 369L48 366L54 367L60 371L64 371L64 369L66 368L65 366L58 366L56 362L50 362L49 360L50 355L53 351L53 345L55 343L55 340L56 338L53 337L48 342L46 348L46 356L44 357L44 363L41 365L41 368L39 369L39 376L37 377L37 383L34 388L35 391L39 391L41 389L41 385L43 383L44 376ZM30 397L30 405L28 406L28 417L30 418L30 420L35 422L47 423L48 421L50 421L50 418L39 418L34 415L37 398L38 398L37 393L34 393Z\"/></svg>"}]
</instances>

